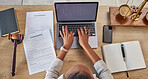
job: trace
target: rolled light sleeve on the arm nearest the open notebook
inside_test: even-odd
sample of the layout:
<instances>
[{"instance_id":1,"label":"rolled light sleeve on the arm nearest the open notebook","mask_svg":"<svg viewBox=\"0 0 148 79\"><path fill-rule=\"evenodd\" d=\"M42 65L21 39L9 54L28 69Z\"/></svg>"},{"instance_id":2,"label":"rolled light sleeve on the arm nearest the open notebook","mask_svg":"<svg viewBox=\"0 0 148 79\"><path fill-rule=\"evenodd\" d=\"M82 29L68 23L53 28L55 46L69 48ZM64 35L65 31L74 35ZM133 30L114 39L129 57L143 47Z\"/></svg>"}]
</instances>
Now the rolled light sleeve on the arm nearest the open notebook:
<instances>
[{"instance_id":1,"label":"rolled light sleeve on the arm nearest the open notebook","mask_svg":"<svg viewBox=\"0 0 148 79\"><path fill-rule=\"evenodd\" d=\"M114 79L103 60L97 61L94 64L94 68L99 75L99 79Z\"/></svg>"}]
</instances>

